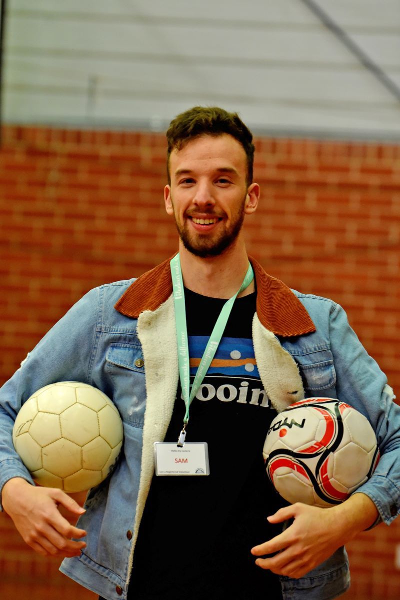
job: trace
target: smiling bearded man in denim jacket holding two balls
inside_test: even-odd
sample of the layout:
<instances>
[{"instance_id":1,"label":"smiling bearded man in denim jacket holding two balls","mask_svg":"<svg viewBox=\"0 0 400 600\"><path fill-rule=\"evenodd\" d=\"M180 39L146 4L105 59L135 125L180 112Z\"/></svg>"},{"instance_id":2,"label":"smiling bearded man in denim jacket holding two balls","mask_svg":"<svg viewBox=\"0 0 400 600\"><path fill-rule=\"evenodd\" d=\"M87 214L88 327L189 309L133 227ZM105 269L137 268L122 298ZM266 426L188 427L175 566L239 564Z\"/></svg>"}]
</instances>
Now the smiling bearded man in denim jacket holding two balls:
<instances>
[{"instance_id":1,"label":"smiling bearded man in denim jacket holding two balls","mask_svg":"<svg viewBox=\"0 0 400 600\"><path fill-rule=\"evenodd\" d=\"M239 117L195 107L167 139L164 199L179 256L89 292L2 388L2 506L32 548L67 557L61 570L107 600L334 598L348 587L342 545L399 512L400 409L338 305L291 291L254 260L252 276L242 223L260 187ZM34 487L11 443L20 404L67 379L103 390L124 421L118 466L85 509ZM261 458L276 410L313 395L367 415L382 455L329 509L285 506ZM203 473L207 443L209 475L154 475L154 443L176 448L178 437L184 449L199 443ZM59 504L85 512L79 526Z\"/></svg>"}]
</instances>

